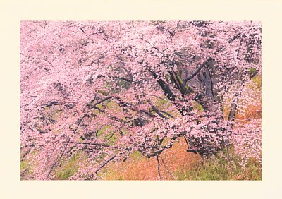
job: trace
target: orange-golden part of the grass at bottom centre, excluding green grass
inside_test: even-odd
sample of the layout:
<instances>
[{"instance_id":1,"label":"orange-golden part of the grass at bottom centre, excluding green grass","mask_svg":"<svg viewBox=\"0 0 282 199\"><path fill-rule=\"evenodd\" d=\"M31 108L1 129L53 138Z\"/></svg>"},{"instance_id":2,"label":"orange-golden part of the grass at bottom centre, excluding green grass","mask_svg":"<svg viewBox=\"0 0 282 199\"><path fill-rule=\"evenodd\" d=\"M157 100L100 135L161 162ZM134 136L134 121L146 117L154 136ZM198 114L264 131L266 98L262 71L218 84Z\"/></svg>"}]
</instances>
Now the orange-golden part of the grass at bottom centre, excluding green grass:
<instances>
[{"instance_id":1,"label":"orange-golden part of the grass at bottom centre, excluding green grass","mask_svg":"<svg viewBox=\"0 0 282 199\"><path fill-rule=\"evenodd\" d=\"M201 160L200 155L188 153L183 138L159 157L162 180L176 180L175 172L187 172ZM159 180L157 157L147 158L135 152L125 162L110 164L101 173L104 180Z\"/></svg>"}]
</instances>

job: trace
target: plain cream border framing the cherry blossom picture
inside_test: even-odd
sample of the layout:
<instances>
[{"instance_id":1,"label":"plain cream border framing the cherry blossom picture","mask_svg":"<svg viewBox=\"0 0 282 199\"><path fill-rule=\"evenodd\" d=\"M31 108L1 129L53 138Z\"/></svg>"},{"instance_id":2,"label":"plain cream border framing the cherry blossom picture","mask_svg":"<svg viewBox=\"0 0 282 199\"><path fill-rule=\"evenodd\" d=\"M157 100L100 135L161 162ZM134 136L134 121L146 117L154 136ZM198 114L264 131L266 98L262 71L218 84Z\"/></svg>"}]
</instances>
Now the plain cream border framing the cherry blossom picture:
<instances>
[{"instance_id":1,"label":"plain cream border framing the cherry blossom picture","mask_svg":"<svg viewBox=\"0 0 282 199\"><path fill-rule=\"evenodd\" d=\"M0 1L0 198L282 198L281 1ZM20 181L20 20L261 20L262 181ZM280 103L279 103L280 102Z\"/></svg>"}]
</instances>

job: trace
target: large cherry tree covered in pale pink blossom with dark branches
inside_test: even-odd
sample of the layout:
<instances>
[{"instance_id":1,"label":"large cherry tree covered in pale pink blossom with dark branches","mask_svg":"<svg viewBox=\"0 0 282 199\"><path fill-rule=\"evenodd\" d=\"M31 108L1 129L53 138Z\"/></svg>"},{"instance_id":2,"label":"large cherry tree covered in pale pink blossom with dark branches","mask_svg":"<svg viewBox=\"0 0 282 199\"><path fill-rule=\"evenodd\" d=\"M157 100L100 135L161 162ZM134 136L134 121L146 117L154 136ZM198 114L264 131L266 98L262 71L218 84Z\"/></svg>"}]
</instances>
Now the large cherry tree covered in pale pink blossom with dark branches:
<instances>
[{"instance_id":1,"label":"large cherry tree covered in pale pink blossom with dark branches","mask_svg":"<svg viewBox=\"0 0 282 199\"><path fill-rule=\"evenodd\" d=\"M257 126L233 129L259 73L254 21L22 21L21 150L36 154L35 179L54 179L78 152L72 179L97 179L109 162L136 150L158 158L180 137L203 157L242 149L242 129L260 138Z\"/></svg>"}]
</instances>

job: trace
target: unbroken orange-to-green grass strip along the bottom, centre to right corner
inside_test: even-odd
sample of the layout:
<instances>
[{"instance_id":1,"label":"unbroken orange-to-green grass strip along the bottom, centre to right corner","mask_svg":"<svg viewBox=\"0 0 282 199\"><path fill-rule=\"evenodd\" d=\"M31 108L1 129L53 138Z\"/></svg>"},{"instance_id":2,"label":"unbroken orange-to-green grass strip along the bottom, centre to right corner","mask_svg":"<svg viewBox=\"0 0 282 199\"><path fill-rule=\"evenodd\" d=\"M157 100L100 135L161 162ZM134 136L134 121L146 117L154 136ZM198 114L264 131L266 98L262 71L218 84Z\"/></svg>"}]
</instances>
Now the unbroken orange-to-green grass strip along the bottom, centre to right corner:
<instances>
[{"instance_id":1,"label":"unbroken orange-to-green grass strip along the bottom, centre to right corner","mask_svg":"<svg viewBox=\"0 0 282 199\"><path fill-rule=\"evenodd\" d=\"M262 167L256 159L249 159L246 170L239 164L233 147L210 159L186 152L183 140L159 157L162 180L261 180ZM157 159L133 152L125 162L109 164L99 176L104 180L159 180Z\"/></svg>"}]
</instances>

